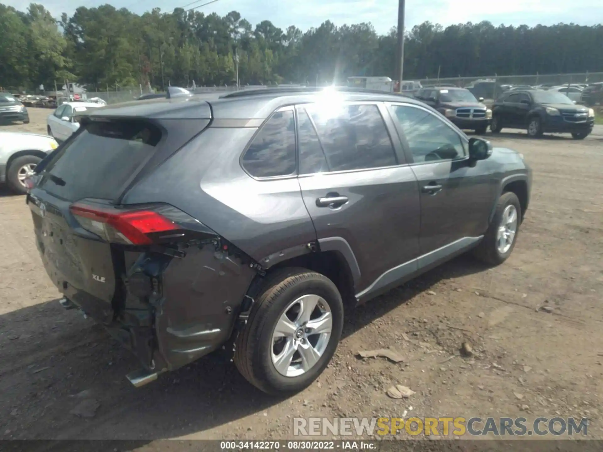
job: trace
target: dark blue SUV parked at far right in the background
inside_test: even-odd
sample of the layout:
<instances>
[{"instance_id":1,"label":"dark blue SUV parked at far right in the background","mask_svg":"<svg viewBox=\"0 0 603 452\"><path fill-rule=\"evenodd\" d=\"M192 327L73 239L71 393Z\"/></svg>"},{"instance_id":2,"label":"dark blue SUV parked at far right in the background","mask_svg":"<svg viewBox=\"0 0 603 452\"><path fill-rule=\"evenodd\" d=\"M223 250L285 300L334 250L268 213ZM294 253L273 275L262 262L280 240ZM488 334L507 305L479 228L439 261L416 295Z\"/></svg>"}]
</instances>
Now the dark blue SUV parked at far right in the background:
<instances>
[{"instance_id":1,"label":"dark blue SUV parked at far right in the background","mask_svg":"<svg viewBox=\"0 0 603 452\"><path fill-rule=\"evenodd\" d=\"M566 95L554 91L508 91L496 99L490 130L522 128L531 137L543 133L570 133L576 140L589 136L595 124L595 110L576 105Z\"/></svg>"}]
</instances>

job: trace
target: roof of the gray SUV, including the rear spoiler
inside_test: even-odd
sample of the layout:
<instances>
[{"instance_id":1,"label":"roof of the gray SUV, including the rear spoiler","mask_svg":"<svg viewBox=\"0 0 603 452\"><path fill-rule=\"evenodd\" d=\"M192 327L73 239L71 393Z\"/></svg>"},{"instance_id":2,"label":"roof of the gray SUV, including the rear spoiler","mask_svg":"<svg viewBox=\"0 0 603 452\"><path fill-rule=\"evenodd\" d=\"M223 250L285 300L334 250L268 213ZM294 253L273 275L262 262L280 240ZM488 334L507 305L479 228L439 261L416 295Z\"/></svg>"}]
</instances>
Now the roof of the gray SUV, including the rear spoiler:
<instances>
[{"instance_id":1,"label":"roof of the gray SUV, including the rear spoiler","mask_svg":"<svg viewBox=\"0 0 603 452\"><path fill-rule=\"evenodd\" d=\"M155 119L266 119L277 108L320 102L324 96L334 96L338 101L390 101L423 105L417 99L379 90L336 87L326 91L294 87L241 90L226 95L202 93L189 97L131 101L98 108L93 116L122 118L137 116Z\"/></svg>"}]
</instances>

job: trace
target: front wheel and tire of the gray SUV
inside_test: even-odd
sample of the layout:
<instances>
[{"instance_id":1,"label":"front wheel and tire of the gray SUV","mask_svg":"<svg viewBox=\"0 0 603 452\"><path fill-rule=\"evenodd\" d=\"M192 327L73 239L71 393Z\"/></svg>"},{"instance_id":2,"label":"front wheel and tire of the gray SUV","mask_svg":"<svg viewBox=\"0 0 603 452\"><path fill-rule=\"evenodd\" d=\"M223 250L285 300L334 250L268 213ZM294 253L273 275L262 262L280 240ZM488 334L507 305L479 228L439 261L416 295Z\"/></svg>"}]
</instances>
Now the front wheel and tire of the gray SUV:
<instances>
[{"instance_id":1,"label":"front wheel and tire of the gray SUV","mask_svg":"<svg viewBox=\"0 0 603 452\"><path fill-rule=\"evenodd\" d=\"M494 218L484 238L473 251L475 257L488 265L500 265L511 256L522 222L522 207L517 195L503 193L496 203Z\"/></svg>"}]
</instances>

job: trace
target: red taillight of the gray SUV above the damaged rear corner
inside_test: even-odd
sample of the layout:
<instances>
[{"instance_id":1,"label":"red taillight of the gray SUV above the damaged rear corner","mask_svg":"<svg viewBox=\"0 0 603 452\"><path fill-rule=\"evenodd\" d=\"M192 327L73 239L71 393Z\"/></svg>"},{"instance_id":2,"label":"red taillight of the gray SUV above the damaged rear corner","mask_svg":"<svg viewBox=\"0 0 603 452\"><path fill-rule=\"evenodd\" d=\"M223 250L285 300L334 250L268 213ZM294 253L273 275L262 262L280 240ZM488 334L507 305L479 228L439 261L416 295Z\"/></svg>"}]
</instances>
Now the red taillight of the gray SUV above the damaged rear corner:
<instances>
[{"instance_id":1,"label":"red taillight of the gray SUV above the damaged rear corner","mask_svg":"<svg viewBox=\"0 0 603 452\"><path fill-rule=\"evenodd\" d=\"M108 242L150 245L180 226L153 210L119 210L76 202L69 207L81 227Z\"/></svg>"}]
</instances>

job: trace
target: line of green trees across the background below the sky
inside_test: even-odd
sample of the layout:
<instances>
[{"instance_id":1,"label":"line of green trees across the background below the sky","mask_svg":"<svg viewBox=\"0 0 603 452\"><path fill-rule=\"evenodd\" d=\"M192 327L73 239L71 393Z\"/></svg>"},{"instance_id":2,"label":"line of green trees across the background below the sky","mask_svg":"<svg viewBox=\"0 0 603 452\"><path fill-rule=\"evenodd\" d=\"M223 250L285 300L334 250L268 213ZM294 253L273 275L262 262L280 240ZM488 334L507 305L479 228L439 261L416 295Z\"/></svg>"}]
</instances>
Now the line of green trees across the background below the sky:
<instances>
[{"instance_id":1,"label":"line of green trees across the background below the sky","mask_svg":"<svg viewBox=\"0 0 603 452\"><path fill-rule=\"evenodd\" d=\"M394 77L396 30L371 24L303 31L270 20L253 26L226 16L175 8L142 15L112 5L79 7L60 19L40 4L0 4L0 86L54 87L66 78L107 86L213 86L342 83L352 75ZM519 27L490 22L424 22L405 34L405 80L603 71L603 25Z\"/></svg>"}]
</instances>

